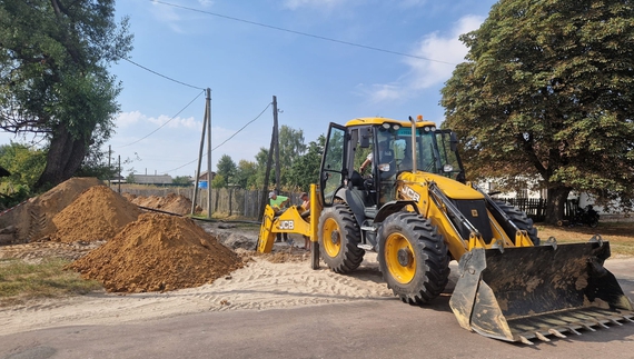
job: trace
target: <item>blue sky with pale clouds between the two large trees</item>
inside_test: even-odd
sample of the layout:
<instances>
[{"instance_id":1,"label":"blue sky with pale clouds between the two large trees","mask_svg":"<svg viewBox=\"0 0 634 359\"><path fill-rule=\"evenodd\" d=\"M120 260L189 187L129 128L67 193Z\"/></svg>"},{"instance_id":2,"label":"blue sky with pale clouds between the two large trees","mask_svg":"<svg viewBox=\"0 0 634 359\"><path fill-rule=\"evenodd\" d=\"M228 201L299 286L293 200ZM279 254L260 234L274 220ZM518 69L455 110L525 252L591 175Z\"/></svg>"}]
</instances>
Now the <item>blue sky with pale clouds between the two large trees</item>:
<instances>
[{"instance_id":1,"label":"blue sky with pale clouds between the two large trees","mask_svg":"<svg viewBox=\"0 0 634 359\"><path fill-rule=\"evenodd\" d=\"M444 119L439 90L467 51L458 36L477 29L494 3L119 0L116 17L130 18L131 61L196 88L211 89L211 147L235 134L212 152L215 170L222 154L238 163L255 161L260 148L268 149L270 107L236 132L257 118L273 96L280 110L279 124L301 129L306 143L325 133L329 122L345 123L357 117L423 114L439 124ZM122 112L108 144L115 158L132 160L123 166L123 176L132 168L140 174L194 176L205 112L202 90L128 61L113 64L111 72L123 90L118 99ZM206 170L206 159L202 163Z\"/></svg>"}]
</instances>

